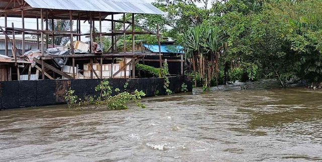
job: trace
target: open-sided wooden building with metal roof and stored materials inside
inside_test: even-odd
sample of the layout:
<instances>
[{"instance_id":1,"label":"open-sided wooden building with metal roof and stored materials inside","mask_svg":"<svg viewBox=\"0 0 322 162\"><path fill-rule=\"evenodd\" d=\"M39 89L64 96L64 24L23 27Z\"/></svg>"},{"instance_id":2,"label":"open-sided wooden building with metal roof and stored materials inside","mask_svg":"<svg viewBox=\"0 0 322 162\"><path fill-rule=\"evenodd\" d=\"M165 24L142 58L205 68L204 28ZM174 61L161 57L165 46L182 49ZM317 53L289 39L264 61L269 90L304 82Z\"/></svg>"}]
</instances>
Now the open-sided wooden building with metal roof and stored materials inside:
<instances>
[{"instance_id":1,"label":"open-sided wooden building with metal roof and stored materials inside","mask_svg":"<svg viewBox=\"0 0 322 162\"><path fill-rule=\"evenodd\" d=\"M135 64L145 56L156 57L157 59L149 61L159 62L160 66L165 61L160 48L161 38L158 25L157 32L154 33L134 22L135 14L160 15L164 13L141 0L2 0L0 10L0 15L5 22L5 26L0 26L0 33L5 37L5 54L0 57L0 75L2 76L0 79L3 79L0 81L135 78ZM126 13L132 14L131 21L125 20ZM116 15L123 16L123 20L116 20ZM111 19L107 19L108 16ZM22 26L17 27L14 23L8 24L8 18L11 17L21 18ZM36 19L36 29L25 28L25 18ZM69 20L69 30L49 29L49 26L54 26L55 20ZM82 22L89 23L90 33L81 32ZM111 30L103 32L102 22L109 22ZM95 24L97 23L99 28L96 30ZM122 30L116 29L116 23L122 24ZM135 31L135 27L141 28L143 32ZM136 51L135 35L137 34L150 34L157 37L159 51L154 53ZM37 47L34 51L26 51L26 46L30 44L26 41L26 35L36 36L36 45L35 42L32 43L34 47ZM132 36L131 51L126 48L126 35ZM96 50L98 46L102 48L103 38L106 36L111 39L111 47ZM69 38L68 47L54 44L53 40L60 37ZM86 40L83 40L85 37ZM21 45L17 44L18 38ZM117 47L120 39L124 39L122 50ZM84 42L88 40L89 43L85 44ZM18 46L21 48L17 48ZM79 52L78 49L85 50ZM179 68L183 73L183 59L179 58L173 62L181 62ZM61 62L64 64L59 64Z\"/></svg>"}]
</instances>

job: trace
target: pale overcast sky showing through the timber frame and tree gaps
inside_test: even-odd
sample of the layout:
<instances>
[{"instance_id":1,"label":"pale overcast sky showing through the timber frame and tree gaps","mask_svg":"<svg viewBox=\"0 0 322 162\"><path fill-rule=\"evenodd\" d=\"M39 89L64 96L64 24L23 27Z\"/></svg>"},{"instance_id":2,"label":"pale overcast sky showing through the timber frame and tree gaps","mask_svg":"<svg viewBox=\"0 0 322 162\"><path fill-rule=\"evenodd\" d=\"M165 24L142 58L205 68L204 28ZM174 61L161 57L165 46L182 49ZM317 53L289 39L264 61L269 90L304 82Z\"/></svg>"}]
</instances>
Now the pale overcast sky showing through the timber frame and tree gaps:
<instances>
[{"instance_id":1,"label":"pale overcast sky showing through the timber frame and tree gaps","mask_svg":"<svg viewBox=\"0 0 322 162\"><path fill-rule=\"evenodd\" d=\"M152 3L154 2L154 0L145 0L145 2L148 3ZM209 5L210 6L211 0L209 1ZM202 7L203 5L201 4L197 4L198 7ZM122 14L118 14L114 16L114 19L120 19L122 17ZM111 19L111 17L109 16L108 19ZM15 28L22 28L22 23L21 23L21 18L8 18L8 27L12 26L12 23L14 23ZM40 22L40 21L39 21ZM81 22L81 31L82 33L87 33L90 30L90 25L88 24L88 22L84 23L84 21ZM74 27L73 29L76 29L75 26L76 23L74 23ZM4 27L5 26L5 18L1 17L0 18L0 26ZM39 27L40 27L40 23L39 23ZM95 23L95 27L99 28L99 23ZM111 27L111 22L102 22L102 30L104 31L108 31ZM26 29L37 29L37 21L36 19L28 19L25 18L25 28ZM21 36L17 36L17 37L21 37ZM28 37L28 35L26 35L26 37ZM84 40L84 38L82 38L82 40Z\"/></svg>"}]
</instances>

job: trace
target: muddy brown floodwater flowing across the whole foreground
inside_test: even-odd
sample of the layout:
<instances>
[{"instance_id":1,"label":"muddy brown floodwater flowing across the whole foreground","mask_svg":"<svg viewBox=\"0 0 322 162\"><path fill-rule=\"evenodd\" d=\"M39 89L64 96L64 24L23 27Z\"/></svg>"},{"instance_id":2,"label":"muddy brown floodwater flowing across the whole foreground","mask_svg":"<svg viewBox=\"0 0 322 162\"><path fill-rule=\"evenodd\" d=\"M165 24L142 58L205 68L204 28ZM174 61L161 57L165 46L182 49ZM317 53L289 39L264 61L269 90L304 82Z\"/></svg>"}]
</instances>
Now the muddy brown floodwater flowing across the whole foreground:
<instances>
[{"instance_id":1,"label":"muddy brown floodwater flowing across the whole foreground","mask_svg":"<svg viewBox=\"0 0 322 162\"><path fill-rule=\"evenodd\" d=\"M0 111L0 161L322 160L322 90L213 89L146 109Z\"/></svg>"}]
</instances>

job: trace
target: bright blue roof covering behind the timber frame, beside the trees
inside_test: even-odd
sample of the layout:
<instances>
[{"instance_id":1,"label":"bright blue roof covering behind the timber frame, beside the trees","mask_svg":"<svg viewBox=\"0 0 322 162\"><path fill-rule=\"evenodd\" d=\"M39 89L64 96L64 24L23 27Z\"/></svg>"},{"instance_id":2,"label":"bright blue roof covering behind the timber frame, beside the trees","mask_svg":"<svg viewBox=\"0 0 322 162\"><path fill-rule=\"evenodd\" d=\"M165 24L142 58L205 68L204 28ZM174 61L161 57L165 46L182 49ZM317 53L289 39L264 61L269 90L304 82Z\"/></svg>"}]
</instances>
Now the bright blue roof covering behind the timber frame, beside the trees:
<instances>
[{"instance_id":1,"label":"bright blue roof covering behind the timber frame, beside the trees","mask_svg":"<svg viewBox=\"0 0 322 162\"><path fill-rule=\"evenodd\" d=\"M159 46L158 45L149 45L149 44L143 44L143 46L147 49L149 49L151 52L159 52ZM161 53L179 53L184 54L182 46L176 46L176 45L161 45Z\"/></svg>"}]
</instances>

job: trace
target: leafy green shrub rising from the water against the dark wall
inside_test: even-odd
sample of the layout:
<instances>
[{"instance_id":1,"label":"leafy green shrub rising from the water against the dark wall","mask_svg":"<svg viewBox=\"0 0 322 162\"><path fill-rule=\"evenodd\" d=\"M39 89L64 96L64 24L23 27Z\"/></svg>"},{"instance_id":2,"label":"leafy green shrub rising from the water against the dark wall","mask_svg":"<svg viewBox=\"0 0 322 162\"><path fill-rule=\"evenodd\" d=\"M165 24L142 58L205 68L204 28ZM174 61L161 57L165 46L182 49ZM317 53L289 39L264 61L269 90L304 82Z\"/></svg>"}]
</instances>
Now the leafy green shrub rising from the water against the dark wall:
<instances>
[{"instance_id":1,"label":"leafy green shrub rising from the water against the dark wall","mask_svg":"<svg viewBox=\"0 0 322 162\"><path fill-rule=\"evenodd\" d=\"M84 99L74 95L73 90L66 91L65 100L68 104L68 108L77 109L109 109L109 110L123 110L127 109L127 104L130 101L134 101L138 107L145 108L139 99L145 96L142 91L135 90L133 93L120 92L120 89L115 88L115 95L112 95L113 87L109 85L109 81L103 80L95 87L95 91L100 92L99 96L86 96ZM127 86L125 84L124 86Z\"/></svg>"}]
</instances>

